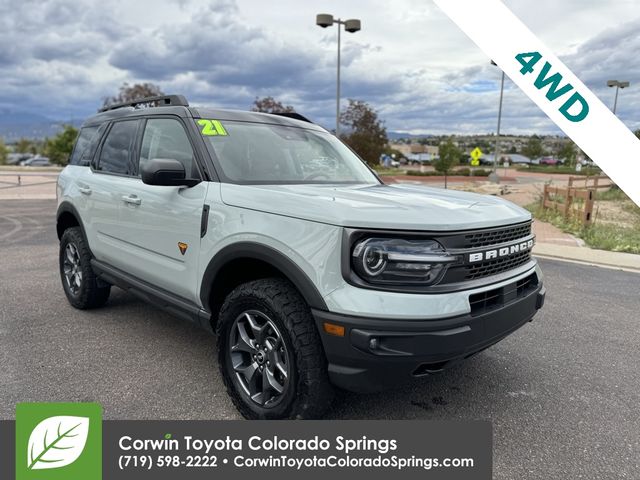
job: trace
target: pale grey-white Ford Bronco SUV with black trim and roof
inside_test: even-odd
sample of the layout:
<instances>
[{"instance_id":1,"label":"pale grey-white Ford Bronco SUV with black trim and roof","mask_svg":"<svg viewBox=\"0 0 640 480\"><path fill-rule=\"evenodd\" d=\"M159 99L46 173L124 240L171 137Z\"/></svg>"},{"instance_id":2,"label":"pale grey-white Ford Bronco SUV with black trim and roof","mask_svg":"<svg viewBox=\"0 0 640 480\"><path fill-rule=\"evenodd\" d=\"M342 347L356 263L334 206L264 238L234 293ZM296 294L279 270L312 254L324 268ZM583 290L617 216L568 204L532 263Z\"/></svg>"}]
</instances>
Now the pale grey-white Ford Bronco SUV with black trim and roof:
<instances>
[{"instance_id":1,"label":"pale grey-white Ford Bronco SUV with black trim and roof","mask_svg":"<svg viewBox=\"0 0 640 480\"><path fill-rule=\"evenodd\" d=\"M544 302L527 211L385 185L297 114L116 105L82 127L57 194L69 302L116 285L215 331L247 418L441 371Z\"/></svg>"}]
</instances>

